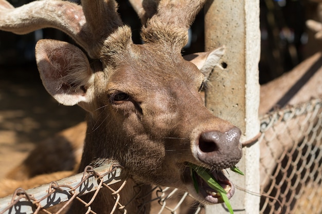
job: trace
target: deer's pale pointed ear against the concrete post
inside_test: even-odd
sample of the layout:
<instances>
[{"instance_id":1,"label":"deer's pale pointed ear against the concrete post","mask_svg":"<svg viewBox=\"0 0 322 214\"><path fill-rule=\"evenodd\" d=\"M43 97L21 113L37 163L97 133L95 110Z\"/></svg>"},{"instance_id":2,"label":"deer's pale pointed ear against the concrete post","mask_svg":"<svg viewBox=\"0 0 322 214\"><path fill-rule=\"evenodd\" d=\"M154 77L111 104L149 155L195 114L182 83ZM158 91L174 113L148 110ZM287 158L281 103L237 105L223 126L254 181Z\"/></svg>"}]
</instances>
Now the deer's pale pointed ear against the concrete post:
<instances>
[{"instance_id":1,"label":"deer's pale pointed ear against the concrete post","mask_svg":"<svg viewBox=\"0 0 322 214\"><path fill-rule=\"evenodd\" d=\"M184 59L193 63L205 75L207 79L215 66L223 67L220 64L220 59L225 53L225 46L214 49L208 52L193 53L184 56Z\"/></svg>"}]
</instances>

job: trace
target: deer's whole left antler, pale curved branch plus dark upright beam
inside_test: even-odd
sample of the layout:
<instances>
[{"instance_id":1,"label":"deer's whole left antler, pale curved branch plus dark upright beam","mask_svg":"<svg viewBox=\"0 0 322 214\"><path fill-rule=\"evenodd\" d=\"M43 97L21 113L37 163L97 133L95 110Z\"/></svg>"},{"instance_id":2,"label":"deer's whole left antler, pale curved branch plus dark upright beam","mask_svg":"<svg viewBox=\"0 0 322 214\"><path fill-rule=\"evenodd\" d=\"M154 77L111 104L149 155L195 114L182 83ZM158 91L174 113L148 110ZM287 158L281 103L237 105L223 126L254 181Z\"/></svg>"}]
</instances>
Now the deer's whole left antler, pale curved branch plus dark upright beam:
<instances>
[{"instance_id":1,"label":"deer's whole left antler, pale curved branch plus dark upright beam","mask_svg":"<svg viewBox=\"0 0 322 214\"><path fill-rule=\"evenodd\" d=\"M49 0L34 1L14 8L0 0L0 29L26 34L41 28L57 28L72 37L93 58L100 56L104 39L122 25L114 1L74 3Z\"/></svg>"}]
</instances>

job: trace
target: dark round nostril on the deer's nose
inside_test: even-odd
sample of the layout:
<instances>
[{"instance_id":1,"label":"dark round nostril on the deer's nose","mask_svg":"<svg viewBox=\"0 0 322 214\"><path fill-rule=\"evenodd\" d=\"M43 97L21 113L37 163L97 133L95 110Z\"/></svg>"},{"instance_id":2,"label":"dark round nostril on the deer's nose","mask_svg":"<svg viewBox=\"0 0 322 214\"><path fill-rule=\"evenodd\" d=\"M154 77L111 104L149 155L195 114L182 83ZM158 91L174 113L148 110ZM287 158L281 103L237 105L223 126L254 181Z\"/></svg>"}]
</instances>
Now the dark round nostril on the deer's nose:
<instances>
[{"instance_id":1,"label":"dark round nostril on the deer's nose","mask_svg":"<svg viewBox=\"0 0 322 214\"><path fill-rule=\"evenodd\" d=\"M199 149L205 153L218 151L218 140L219 135L216 132L204 132L199 139Z\"/></svg>"}]
</instances>

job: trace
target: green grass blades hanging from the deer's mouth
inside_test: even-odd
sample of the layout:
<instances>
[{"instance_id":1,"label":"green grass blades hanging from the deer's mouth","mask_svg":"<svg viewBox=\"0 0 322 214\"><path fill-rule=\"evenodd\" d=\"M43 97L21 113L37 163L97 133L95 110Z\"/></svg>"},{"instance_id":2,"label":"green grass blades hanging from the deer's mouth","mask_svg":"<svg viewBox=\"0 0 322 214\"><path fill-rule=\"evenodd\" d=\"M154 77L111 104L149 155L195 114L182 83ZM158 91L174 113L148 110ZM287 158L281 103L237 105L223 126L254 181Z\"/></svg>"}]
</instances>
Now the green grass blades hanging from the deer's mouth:
<instances>
[{"instance_id":1,"label":"green grass blades hanging from the deer's mouth","mask_svg":"<svg viewBox=\"0 0 322 214\"><path fill-rule=\"evenodd\" d=\"M193 185L194 185L196 192L199 193L199 186L198 186L198 182L195 177L195 173L197 173L198 176L200 178L202 178L208 184L208 186L210 186L212 189L218 191L218 193L220 194L220 197L225 202L230 214L234 214L234 210L232 210L229 199L227 197L226 190L212 176L209 169L194 165L192 163L189 163L189 166L190 166L191 178L192 178ZM230 167L230 169L234 172L244 175L244 173L242 171L240 171L240 169L238 169L236 166Z\"/></svg>"}]
</instances>

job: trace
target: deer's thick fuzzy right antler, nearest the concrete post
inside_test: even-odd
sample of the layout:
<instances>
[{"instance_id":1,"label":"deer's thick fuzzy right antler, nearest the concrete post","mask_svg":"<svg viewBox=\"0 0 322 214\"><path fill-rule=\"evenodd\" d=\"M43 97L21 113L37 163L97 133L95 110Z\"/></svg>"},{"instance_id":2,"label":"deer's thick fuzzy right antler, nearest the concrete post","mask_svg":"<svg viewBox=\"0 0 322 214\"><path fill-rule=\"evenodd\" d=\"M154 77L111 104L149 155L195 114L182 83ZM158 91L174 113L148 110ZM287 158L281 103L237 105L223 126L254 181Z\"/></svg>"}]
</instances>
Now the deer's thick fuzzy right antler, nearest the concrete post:
<instances>
[{"instance_id":1,"label":"deer's thick fuzzy right antler, nearest the concrete post","mask_svg":"<svg viewBox=\"0 0 322 214\"><path fill-rule=\"evenodd\" d=\"M161 38L183 47L187 42L187 30L205 0L130 0L130 3L145 26L141 36L146 43Z\"/></svg>"}]
</instances>

